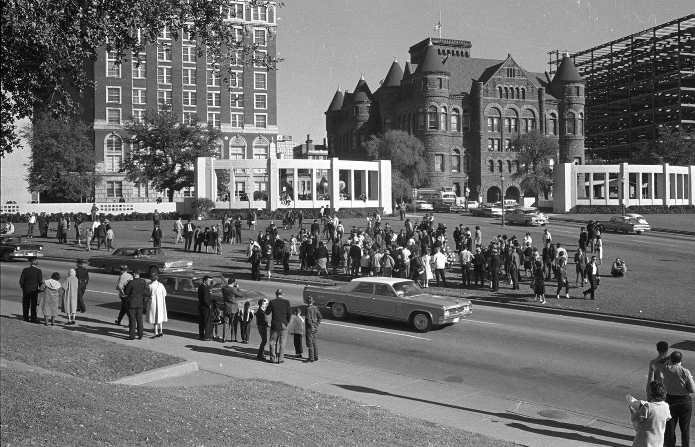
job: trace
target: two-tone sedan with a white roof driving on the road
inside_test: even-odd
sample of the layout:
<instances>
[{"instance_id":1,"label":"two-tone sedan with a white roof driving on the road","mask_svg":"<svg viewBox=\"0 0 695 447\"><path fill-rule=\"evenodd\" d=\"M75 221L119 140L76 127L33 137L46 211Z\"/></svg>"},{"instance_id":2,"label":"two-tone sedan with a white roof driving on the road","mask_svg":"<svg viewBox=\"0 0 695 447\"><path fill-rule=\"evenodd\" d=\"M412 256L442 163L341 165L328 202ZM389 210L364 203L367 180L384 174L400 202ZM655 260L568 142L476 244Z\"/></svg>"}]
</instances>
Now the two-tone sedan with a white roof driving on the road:
<instances>
[{"instance_id":1,"label":"two-tone sedan with a white roof driving on the road","mask_svg":"<svg viewBox=\"0 0 695 447\"><path fill-rule=\"evenodd\" d=\"M368 315L405 321L418 332L457 323L473 312L471 301L430 295L417 282L402 278L355 278L332 287L306 286L304 299L309 295L336 319L345 319L349 313Z\"/></svg>"}]
</instances>

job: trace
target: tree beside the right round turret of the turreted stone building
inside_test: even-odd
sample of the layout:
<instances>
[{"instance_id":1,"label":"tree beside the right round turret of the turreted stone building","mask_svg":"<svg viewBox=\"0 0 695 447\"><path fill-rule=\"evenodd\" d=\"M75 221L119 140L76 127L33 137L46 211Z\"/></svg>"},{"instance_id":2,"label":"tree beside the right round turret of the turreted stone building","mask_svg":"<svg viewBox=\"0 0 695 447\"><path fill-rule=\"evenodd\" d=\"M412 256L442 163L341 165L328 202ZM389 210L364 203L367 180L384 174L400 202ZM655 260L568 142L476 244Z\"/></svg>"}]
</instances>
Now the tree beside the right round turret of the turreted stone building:
<instances>
[{"instance_id":1,"label":"tree beside the right round turret of the turreted stone building","mask_svg":"<svg viewBox=\"0 0 695 447\"><path fill-rule=\"evenodd\" d=\"M538 130L518 133L512 139L512 150L521 169L512 175L522 191L531 191L538 198L547 195L553 187L553 169L550 160L555 160L559 146L553 137L542 135Z\"/></svg>"}]
</instances>

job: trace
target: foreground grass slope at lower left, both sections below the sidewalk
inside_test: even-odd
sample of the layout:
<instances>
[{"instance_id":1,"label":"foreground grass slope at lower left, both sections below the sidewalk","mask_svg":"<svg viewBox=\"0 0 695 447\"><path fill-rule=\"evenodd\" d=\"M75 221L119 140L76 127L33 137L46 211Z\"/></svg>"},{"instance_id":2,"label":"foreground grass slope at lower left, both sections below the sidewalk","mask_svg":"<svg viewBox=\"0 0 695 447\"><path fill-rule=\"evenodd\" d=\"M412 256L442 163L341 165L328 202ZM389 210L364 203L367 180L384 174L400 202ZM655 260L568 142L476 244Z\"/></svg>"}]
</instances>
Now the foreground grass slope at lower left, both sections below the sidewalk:
<instances>
[{"instance_id":1,"label":"foreground grass slope at lower left, both sections below the sidewalk","mask_svg":"<svg viewBox=\"0 0 695 447\"><path fill-rule=\"evenodd\" d=\"M76 376L3 369L0 437L7 446L448 447L452 439L470 447L516 446L266 380L113 385L103 380L129 364L138 371L143 364L156 367L157 354L20 322L4 321L2 329L3 357ZM19 341L22 335L31 343Z\"/></svg>"}]
</instances>

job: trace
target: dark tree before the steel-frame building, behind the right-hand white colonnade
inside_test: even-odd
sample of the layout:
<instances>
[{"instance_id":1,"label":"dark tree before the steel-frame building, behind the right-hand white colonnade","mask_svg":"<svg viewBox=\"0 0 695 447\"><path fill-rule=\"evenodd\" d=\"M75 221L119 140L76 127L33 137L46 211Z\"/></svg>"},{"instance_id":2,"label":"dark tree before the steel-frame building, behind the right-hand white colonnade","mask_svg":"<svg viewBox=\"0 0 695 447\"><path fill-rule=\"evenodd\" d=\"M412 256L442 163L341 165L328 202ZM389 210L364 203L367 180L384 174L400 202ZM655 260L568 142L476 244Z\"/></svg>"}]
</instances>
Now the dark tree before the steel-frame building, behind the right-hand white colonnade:
<instances>
[{"instance_id":1,"label":"dark tree before the steel-frame building, behind the right-hand white colonnade","mask_svg":"<svg viewBox=\"0 0 695 447\"><path fill-rule=\"evenodd\" d=\"M653 145L637 146L632 162L644 165L695 165L695 131L676 132L670 127L662 128Z\"/></svg>"}]
</instances>

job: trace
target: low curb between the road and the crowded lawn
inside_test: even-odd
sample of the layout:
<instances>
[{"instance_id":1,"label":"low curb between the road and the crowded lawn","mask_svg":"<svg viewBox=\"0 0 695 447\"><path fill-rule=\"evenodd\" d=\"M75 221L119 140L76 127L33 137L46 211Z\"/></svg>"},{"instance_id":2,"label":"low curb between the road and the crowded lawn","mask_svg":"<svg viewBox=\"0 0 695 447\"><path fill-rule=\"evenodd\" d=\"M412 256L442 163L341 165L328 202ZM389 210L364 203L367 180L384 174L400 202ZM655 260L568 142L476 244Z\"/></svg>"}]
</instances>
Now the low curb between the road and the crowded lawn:
<instances>
[{"instance_id":1,"label":"low curb between the road and the crowded lawn","mask_svg":"<svg viewBox=\"0 0 695 447\"><path fill-rule=\"evenodd\" d=\"M556 219L558 220L558 219ZM695 233L694 233L695 234ZM51 261L74 261L72 258L43 258L44 260L51 260ZM222 273L222 276L225 278L228 278L229 276L232 276L231 273ZM235 276L235 278L240 278L240 276ZM244 274L243 276L244 279L250 280L250 275ZM318 287L329 287L332 285L338 285L338 282L315 282L315 281L305 281L305 280L293 280L293 279L285 279L285 278L273 278L273 281L277 282L286 282L288 284L296 284L296 285L316 285ZM450 295L445 295L445 296L450 296ZM454 297L454 298L460 298L460 297ZM643 320L643 319L637 319L637 318L631 318L631 317L620 317L619 315L610 315L610 314L594 314L593 312L582 312L579 310L562 310L562 309L553 309L551 307L540 307L540 306L532 306L532 305L523 305L523 304L515 304L515 303L498 303L495 301L486 301L486 300L480 300L480 299L475 299L475 298L470 298L466 297L466 299L470 300L471 303L475 303L476 305L483 305L483 306L489 306L489 307L500 307L500 308L505 308L505 309L516 309L516 310L524 310L526 312L539 312L543 314L554 314L554 315L564 315L566 317L575 317L575 318L585 318L585 319L593 319L593 320L598 320L598 321L610 321L614 323L623 323L623 324L631 324L632 326L644 326L644 327L649 327L649 328L658 328L658 329L667 329L667 330L678 330L682 332L690 332L695 328L695 325L687 325L687 324L679 324L679 323L667 323L664 321L654 321L654 320Z\"/></svg>"}]
</instances>

